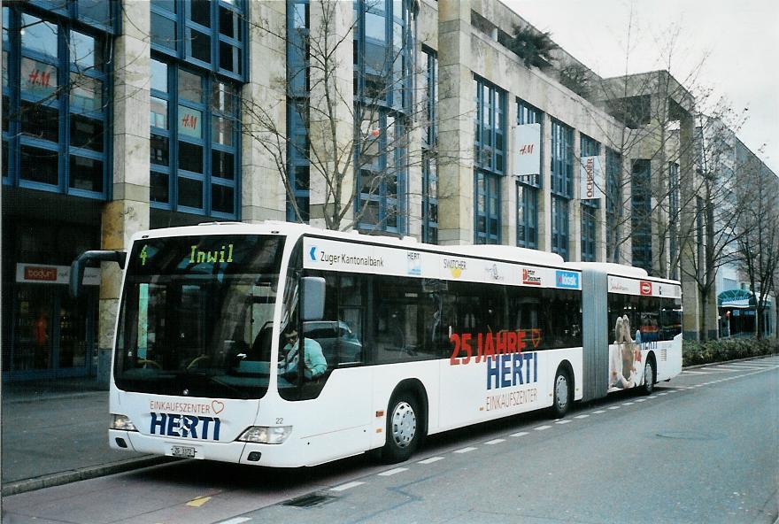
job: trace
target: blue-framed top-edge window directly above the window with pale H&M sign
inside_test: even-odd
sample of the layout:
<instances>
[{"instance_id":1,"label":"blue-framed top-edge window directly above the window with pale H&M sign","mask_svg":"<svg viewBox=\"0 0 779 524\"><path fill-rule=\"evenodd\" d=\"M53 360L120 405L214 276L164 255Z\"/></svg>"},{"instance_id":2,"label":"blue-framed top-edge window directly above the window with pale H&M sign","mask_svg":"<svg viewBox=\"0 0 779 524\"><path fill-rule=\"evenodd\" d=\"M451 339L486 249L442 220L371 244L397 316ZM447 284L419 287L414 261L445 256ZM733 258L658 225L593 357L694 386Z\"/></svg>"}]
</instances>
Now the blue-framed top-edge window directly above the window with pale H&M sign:
<instances>
[{"instance_id":1,"label":"blue-framed top-edge window directly above the window with pale H&M sign","mask_svg":"<svg viewBox=\"0 0 779 524\"><path fill-rule=\"evenodd\" d=\"M244 0L151 0L150 9L152 50L245 81Z\"/></svg>"}]
</instances>

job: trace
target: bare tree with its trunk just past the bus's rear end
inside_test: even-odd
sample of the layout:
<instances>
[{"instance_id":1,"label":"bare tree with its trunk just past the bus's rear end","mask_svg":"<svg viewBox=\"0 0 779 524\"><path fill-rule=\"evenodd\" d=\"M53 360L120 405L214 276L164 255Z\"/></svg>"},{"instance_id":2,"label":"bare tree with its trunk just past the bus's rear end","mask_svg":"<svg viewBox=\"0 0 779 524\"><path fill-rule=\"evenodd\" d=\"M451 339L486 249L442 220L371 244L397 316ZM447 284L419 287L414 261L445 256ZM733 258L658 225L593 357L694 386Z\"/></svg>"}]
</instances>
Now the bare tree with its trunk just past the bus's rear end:
<instances>
[{"instance_id":1,"label":"bare tree with its trunk just past the bus's rear end","mask_svg":"<svg viewBox=\"0 0 779 524\"><path fill-rule=\"evenodd\" d=\"M601 79L581 73L590 100L617 122L601 129L612 155L606 158L603 188L610 213L607 227L614 238L607 258L626 261L622 251L631 245L634 266L694 283L703 319L698 336L706 339L709 331L716 333L710 308L717 271L737 250L740 208L729 163L735 158L733 134L744 118L698 80L705 55L681 81L671 75L679 56L678 36L679 28L671 27L654 39L660 70L630 74L636 43L631 18L624 74ZM576 70L575 63L564 66L561 77L572 68ZM730 135L733 139L726 140ZM616 175L608 166L614 158L622 161Z\"/></svg>"}]
</instances>

